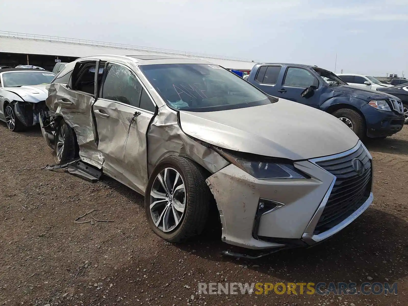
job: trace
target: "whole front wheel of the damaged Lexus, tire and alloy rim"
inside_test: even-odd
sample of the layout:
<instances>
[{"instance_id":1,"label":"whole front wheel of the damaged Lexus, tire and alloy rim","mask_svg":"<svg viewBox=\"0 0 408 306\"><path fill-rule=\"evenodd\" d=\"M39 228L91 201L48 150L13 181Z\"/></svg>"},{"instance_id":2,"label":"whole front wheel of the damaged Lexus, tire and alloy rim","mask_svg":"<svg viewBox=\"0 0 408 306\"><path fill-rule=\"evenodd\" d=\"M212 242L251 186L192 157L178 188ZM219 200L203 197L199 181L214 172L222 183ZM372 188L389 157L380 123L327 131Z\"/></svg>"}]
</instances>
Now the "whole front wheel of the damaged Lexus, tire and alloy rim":
<instances>
[{"instance_id":1,"label":"whole front wheel of the damaged Lexus, tire and alloy rim","mask_svg":"<svg viewBox=\"0 0 408 306\"><path fill-rule=\"evenodd\" d=\"M205 170L179 156L164 158L153 170L144 208L151 229L177 243L199 235L208 219L212 195Z\"/></svg>"}]
</instances>

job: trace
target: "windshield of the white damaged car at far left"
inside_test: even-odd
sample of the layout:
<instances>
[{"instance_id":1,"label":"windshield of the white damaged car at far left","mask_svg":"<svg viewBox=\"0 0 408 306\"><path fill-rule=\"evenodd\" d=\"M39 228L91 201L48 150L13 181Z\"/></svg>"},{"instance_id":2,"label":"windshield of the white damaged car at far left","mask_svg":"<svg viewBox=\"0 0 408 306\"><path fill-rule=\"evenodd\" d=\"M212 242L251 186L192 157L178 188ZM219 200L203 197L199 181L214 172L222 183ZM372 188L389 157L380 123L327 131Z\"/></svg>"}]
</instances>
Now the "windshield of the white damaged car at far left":
<instances>
[{"instance_id":1,"label":"windshield of the white damaged car at far left","mask_svg":"<svg viewBox=\"0 0 408 306\"><path fill-rule=\"evenodd\" d=\"M54 73L44 71L9 71L2 74L3 87L49 84Z\"/></svg>"}]
</instances>

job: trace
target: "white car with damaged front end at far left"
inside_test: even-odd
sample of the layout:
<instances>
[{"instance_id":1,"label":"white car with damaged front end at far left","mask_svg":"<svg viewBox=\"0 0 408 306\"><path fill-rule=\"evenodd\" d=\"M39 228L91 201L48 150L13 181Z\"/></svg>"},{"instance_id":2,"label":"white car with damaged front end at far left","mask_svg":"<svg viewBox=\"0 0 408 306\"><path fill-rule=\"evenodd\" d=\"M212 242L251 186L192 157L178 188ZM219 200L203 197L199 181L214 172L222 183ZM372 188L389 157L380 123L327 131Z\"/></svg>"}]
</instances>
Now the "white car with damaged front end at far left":
<instances>
[{"instance_id":1,"label":"white car with damaged front end at far left","mask_svg":"<svg viewBox=\"0 0 408 306\"><path fill-rule=\"evenodd\" d=\"M39 123L40 106L45 101L55 74L38 69L0 69L0 120L11 131L21 131Z\"/></svg>"}]
</instances>

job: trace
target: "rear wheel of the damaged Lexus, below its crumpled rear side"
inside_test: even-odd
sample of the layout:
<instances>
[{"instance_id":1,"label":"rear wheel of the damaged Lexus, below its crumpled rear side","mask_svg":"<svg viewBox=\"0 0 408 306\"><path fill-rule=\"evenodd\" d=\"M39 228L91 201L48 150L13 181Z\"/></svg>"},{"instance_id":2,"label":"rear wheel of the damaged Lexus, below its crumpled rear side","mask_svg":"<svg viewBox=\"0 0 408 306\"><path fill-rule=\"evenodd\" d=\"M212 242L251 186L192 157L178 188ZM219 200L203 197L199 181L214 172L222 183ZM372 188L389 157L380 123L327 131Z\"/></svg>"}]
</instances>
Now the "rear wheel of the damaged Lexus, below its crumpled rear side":
<instances>
[{"instance_id":1,"label":"rear wheel of the damaged Lexus, below its crumpled rear side","mask_svg":"<svg viewBox=\"0 0 408 306\"><path fill-rule=\"evenodd\" d=\"M61 145L61 142L63 144ZM61 150L61 151L60 151ZM58 152L60 151L60 154ZM54 159L56 164L64 164L78 157L75 133L63 119L58 124L54 137Z\"/></svg>"}]
</instances>

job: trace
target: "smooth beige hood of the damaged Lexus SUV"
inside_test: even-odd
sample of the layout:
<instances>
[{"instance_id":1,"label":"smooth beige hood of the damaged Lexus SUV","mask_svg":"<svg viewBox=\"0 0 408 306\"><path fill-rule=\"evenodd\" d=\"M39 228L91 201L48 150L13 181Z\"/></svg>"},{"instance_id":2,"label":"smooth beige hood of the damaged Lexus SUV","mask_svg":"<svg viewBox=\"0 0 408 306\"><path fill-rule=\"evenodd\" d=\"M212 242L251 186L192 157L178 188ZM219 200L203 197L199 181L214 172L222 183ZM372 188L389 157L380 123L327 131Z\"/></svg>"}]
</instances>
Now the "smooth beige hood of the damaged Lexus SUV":
<instances>
[{"instance_id":1,"label":"smooth beige hood of the damaged Lexus SUV","mask_svg":"<svg viewBox=\"0 0 408 306\"><path fill-rule=\"evenodd\" d=\"M184 133L220 148L306 160L347 151L359 140L337 118L296 102L213 112L180 111Z\"/></svg>"}]
</instances>

